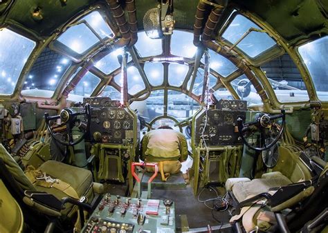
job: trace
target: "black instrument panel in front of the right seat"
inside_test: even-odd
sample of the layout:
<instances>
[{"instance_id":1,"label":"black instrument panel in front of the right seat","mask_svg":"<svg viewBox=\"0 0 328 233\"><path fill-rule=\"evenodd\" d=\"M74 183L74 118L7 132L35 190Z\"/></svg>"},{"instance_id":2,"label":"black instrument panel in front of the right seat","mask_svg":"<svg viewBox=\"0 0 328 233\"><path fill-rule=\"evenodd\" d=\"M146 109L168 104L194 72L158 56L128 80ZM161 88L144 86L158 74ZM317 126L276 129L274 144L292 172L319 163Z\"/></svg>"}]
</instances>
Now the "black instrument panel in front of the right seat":
<instances>
[{"instance_id":1,"label":"black instrument panel in front of the right seat","mask_svg":"<svg viewBox=\"0 0 328 233\"><path fill-rule=\"evenodd\" d=\"M237 119L246 118L247 102L221 99L217 107L219 109L205 110L196 117L195 144L202 139L206 145L242 145Z\"/></svg>"}]
</instances>

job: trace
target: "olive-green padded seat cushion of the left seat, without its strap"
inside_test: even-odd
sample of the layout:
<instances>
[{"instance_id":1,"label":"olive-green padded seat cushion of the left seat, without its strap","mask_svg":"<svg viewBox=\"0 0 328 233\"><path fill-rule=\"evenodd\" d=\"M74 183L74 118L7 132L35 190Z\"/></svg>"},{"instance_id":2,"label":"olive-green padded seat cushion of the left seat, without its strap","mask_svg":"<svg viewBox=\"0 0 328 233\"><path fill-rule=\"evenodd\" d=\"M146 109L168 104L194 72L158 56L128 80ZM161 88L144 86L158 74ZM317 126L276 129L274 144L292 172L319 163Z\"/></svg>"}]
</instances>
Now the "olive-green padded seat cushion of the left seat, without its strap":
<instances>
[{"instance_id":1,"label":"olive-green padded seat cushion of the left seat, without its strap","mask_svg":"<svg viewBox=\"0 0 328 233\"><path fill-rule=\"evenodd\" d=\"M38 170L46 172L46 174L51 176L51 178L60 179L61 181L69 183L78 193L78 196L83 196L92 183L92 173L89 170L84 168L77 168L65 163L60 163L58 161L46 161L41 166L39 166ZM41 188L42 187L37 187L37 190L43 190ZM45 192L49 192L49 188L44 189ZM67 196L60 190L55 190L55 188L51 189L51 194L54 194L58 199ZM64 196L62 196L62 194Z\"/></svg>"}]
</instances>

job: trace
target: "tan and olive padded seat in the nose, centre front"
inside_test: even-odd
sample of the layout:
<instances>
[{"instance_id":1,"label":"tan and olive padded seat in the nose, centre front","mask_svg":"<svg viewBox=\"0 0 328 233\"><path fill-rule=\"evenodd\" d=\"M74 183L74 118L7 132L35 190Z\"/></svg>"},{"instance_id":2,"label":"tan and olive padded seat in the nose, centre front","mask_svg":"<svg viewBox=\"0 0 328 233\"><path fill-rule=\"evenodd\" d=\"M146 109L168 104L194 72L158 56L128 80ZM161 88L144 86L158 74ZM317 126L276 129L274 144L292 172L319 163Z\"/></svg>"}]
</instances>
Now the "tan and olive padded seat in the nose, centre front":
<instances>
[{"instance_id":1,"label":"tan and olive padded seat in the nose, centre front","mask_svg":"<svg viewBox=\"0 0 328 233\"><path fill-rule=\"evenodd\" d=\"M143 136L141 142L141 160L146 163L158 163L162 181L167 181L170 174L181 170L181 162L188 158L188 145L185 136L172 128L158 128ZM153 172L153 168L146 168Z\"/></svg>"}]
</instances>

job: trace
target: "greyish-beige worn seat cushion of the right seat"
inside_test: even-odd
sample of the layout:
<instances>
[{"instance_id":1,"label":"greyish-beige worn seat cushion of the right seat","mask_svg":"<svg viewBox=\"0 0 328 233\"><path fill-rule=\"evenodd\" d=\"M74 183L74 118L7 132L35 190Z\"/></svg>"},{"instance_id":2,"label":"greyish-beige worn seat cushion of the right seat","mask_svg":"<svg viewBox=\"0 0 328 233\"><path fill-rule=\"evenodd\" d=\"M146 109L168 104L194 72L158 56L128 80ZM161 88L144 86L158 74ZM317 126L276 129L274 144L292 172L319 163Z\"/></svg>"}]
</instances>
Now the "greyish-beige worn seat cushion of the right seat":
<instances>
[{"instance_id":1,"label":"greyish-beige worn seat cushion of the right seat","mask_svg":"<svg viewBox=\"0 0 328 233\"><path fill-rule=\"evenodd\" d=\"M284 175L273 176L270 179L253 179L252 181L238 182L233 185L233 194L241 202L250 196L268 192L270 188L289 185L292 182Z\"/></svg>"}]
</instances>

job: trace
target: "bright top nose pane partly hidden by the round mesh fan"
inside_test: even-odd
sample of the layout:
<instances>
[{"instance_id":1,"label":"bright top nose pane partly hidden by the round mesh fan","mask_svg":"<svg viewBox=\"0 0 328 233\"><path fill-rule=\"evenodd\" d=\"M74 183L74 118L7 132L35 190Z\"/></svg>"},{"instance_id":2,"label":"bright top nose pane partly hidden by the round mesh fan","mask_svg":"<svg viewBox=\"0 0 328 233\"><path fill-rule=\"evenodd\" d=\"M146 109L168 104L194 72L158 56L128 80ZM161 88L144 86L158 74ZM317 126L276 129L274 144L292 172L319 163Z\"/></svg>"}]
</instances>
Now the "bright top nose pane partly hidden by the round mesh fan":
<instances>
[{"instance_id":1,"label":"bright top nose pane partly hidden by the round mesh fan","mask_svg":"<svg viewBox=\"0 0 328 233\"><path fill-rule=\"evenodd\" d=\"M138 32L138 41L134 45L141 57L150 57L162 54L162 40L150 39L146 32Z\"/></svg>"}]
</instances>

